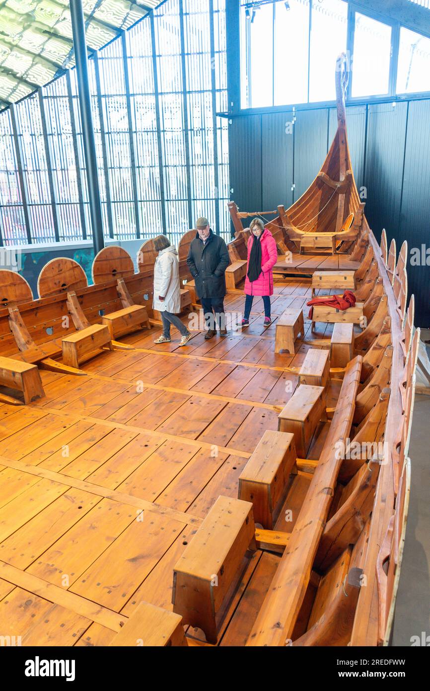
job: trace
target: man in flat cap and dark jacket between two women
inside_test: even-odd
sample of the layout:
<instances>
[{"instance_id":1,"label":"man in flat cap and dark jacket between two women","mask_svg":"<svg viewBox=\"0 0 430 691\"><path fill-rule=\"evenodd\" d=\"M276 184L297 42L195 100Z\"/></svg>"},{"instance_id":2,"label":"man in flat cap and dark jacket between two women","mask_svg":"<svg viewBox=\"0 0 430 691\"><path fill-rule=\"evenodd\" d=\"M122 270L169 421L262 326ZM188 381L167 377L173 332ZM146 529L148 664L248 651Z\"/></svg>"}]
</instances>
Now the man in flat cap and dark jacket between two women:
<instances>
[{"instance_id":1,"label":"man in flat cap and dark jacket between two women","mask_svg":"<svg viewBox=\"0 0 430 691\"><path fill-rule=\"evenodd\" d=\"M213 233L207 218L197 220L197 234L191 242L186 263L195 280L195 291L202 303L208 329L206 341L215 336L217 326L221 336L226 336L225 274L230 258L226 243L219 235Z\"/></svg>"}]
</instances>

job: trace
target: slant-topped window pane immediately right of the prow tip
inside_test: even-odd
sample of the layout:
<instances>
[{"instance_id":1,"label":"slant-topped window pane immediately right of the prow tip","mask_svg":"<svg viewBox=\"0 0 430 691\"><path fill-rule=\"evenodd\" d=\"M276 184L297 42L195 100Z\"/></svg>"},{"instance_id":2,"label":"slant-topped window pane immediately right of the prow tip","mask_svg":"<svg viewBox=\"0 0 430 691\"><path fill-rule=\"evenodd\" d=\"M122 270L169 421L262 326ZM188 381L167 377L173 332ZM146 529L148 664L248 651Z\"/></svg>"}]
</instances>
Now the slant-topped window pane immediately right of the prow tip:
<instances>
[{"instance_id":1,"label":"slant-topped window pane immediately right of the prow tip","mask_svg":"<svg viewBox=\"0 0 430 691\"><path fill-rule=\"evenodd\" d=\"M391 26L355 12L353 96L388 93L390 55Z\"/></svg>"}]
</instances>

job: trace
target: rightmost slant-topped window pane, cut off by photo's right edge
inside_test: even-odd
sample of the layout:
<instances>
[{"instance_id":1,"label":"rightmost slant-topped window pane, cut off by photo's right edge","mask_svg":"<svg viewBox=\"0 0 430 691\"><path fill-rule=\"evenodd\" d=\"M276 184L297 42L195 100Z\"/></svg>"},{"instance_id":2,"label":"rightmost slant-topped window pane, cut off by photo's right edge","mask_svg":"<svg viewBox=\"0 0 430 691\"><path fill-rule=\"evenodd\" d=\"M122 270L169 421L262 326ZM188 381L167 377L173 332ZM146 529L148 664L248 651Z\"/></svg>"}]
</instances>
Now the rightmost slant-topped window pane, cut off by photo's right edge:
<instances>
[{"instance_id":1,"label":"rightmost slant-topped window pane, cut off by photo's right edge","mask_svg":"<svg viewBox=\"0 0 430 691\"><path fill-rule=\"evenodd\" d=\"M430 39L400 29L397 93L430 91Z\"/></svg>"}]
</instances>

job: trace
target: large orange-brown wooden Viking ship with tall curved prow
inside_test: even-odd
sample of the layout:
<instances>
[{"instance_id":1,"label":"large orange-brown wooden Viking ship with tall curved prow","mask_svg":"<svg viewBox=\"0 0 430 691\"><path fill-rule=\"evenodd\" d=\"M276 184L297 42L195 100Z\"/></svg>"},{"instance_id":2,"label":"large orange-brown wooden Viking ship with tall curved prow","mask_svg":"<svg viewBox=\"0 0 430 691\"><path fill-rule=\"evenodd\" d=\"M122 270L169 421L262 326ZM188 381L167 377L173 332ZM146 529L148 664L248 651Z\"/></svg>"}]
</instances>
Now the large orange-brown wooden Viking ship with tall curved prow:
<instances>
[{"instance_id":1,"label":"large orange-brown wooden Viking ship with tall curved prow","mask_svg":"<svg viewBox=\"0 0 430 691\"><path fill-rule=\"evenodd\" d=\"M419 330L406 243L380 245L338 131L267 224L273 324L226 272L228 337L205 341L179 243L182 315L153 312L154 241L70 259L39 298L0 272L0 636L21 645L387 645L407 520ZM349 310L311 296L348 288ZM201 315L200 315L201 317ZM194 320L194 321L193 321ZM6 638L5 638L6 639Z\"/></svg>"}]
</instances>

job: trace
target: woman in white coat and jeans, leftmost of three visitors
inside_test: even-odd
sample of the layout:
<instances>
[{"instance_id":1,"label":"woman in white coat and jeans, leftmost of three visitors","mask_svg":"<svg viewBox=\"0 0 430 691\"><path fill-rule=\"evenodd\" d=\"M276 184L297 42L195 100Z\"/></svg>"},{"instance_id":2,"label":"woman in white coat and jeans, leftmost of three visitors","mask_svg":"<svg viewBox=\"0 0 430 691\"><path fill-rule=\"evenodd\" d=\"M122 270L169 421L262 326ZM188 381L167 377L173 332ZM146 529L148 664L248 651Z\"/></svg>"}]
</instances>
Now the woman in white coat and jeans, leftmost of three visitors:
<instances>
[{"instance_id":1,"label":"woman in white coat and jeans, leftmost of three visitors","mask_svg":"<svg viewBox=\"0 0 430 691\"><path fill-rule=\"evenodd\" d=\"M179 345L185 345L191 338L186 325L179 319L181 311L181 288L179 284L179 261L175 247L172 247L165 235L160 235L154 243L158 252L154 266L154 310L162 315L163 335L155 343L170 343L170 324L173 324L182 339Z\"/></svg>"}]
</instances>

